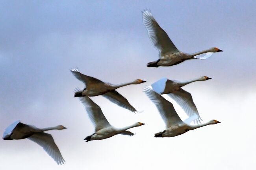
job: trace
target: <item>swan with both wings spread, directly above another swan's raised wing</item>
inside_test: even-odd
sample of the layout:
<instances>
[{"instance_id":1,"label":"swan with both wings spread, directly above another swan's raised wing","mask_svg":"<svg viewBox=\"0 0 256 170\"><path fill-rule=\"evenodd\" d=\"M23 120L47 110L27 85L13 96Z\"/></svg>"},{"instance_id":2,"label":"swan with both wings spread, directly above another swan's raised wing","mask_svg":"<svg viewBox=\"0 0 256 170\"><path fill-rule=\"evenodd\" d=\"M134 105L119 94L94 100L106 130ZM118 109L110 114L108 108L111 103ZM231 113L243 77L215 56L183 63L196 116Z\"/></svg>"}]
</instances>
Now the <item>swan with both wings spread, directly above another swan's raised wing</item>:
<instances>
[{"instance_id":1,"label":"swan with both wings spread, directly above another swan's raised wing","mask_svg":"<svg viewBox=\"0 0 256 170\"><path fill-rule=\"evenodd\" d=\"M146 82L141 79L136 79L132 82L126 82L122 84L111 84L108 82L102 82L94 77L90 77L84 75L78 71L77 68L73 68L70 70L72 75L74 75L78 80L82 81L85 84L85 88L81 91L76 89L74 97L82 97L82 96L98 96L102 95L106 97L109 101L121 106L122 108L126 108L131 112L137 112L135 108L124 98L120 93L115 91L115 89L120 88L122 86L127 86L130 84L141 84Z\"/></svg>"}]
</instances>

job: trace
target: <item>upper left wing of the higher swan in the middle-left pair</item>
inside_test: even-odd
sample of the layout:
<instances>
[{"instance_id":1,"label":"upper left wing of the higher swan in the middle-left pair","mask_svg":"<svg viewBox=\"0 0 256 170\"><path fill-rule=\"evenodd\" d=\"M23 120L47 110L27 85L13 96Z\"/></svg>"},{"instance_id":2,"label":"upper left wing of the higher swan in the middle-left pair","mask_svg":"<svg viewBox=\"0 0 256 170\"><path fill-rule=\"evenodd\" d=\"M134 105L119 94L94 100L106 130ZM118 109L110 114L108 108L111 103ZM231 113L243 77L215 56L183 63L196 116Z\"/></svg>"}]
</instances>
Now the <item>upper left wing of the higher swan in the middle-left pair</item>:
<instances>
[{"instance_id":1,"label":"upper left wing of the higher swan in the middle-left pair","mask_svg":"<svg viewBox=\"0 0 256 170\"><path fill-rule=\"evenodd\" d=\"M91 88L91 87L95 86L95 84L104 83L99 79L96 79L94 77L87 76L87 75L80 73L77 68L73 68L70 71L71 71L72 75L74 75L76 77L76 79L82 81L87 88Z\"/></svg>"}]
</instances>

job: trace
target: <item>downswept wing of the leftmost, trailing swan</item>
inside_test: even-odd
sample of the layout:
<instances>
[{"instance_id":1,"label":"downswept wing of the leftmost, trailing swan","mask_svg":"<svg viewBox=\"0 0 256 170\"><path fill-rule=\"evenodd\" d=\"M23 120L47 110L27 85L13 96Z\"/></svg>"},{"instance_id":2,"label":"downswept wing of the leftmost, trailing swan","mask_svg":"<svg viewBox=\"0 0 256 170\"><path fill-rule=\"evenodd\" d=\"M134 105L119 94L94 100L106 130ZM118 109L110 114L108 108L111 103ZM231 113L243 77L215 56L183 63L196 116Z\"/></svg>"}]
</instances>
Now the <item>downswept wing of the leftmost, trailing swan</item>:
<instances>
[{"instance_id":1,"label":"downswept wing of the leftmost, trailing swan","mask_svg":"<svg viewBox=\"0 0 256 170\"><path fill-rule=\"evenodd\" d=\"M64 164L65 160L63 159L58 146L55 144L52 135L40 132L33 134L28 137L28 139L42 146L45 152L47 152L58 165Z\"/></svg>"}]
</instances>

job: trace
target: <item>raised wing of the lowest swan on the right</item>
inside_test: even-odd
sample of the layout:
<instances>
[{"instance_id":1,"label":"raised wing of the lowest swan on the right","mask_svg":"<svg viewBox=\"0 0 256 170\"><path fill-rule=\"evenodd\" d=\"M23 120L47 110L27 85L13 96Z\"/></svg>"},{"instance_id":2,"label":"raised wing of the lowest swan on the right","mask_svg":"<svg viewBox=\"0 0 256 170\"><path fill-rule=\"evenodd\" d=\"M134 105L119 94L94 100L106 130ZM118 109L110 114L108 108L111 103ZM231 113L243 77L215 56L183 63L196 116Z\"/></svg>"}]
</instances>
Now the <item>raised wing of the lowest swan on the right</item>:
<instances>
[{"instance_id":1,"label":"raised wing of the lowest swan on the right","mask_svg":"<svg viewBox=\"0 0 256 170\"><path fill-rule=\"evenodd\" d=\"M148 98L156 105L158 112L160 113L166 127L182 122L177 112L175 111L173 104L163 98L156 91L150 89L148 86L143 88Z\"/></svg>"}]
</instances>

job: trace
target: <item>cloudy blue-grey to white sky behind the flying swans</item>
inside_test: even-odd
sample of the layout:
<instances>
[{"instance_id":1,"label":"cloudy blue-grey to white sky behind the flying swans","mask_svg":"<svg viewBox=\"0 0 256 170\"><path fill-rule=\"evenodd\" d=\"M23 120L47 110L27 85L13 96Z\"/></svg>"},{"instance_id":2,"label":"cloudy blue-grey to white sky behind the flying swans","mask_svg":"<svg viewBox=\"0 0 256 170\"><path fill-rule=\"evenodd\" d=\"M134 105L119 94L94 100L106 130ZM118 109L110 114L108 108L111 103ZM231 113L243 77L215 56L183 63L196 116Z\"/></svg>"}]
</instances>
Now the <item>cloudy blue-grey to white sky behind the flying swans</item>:
<instances>
[{"instance_id":1,"label":"cloudy blue-grey to white sky behind the flying swans","mask_svg":"<svg viewBox=\"0 0 256 170\"><path fill-rule=\"evenodd\" d=\"M1 170L241 170L254 169L256 159L256 2L247 1L1 1L0 5L0 133L21 120L39 128L62 124L52 134L66 164L57 165L28 139L0 140ZM142 23L150 9L180 51L217 47L207 60L147 68L158 59ZM134 114L107 99L92 97L108 121L136 135L116 135L85 143L94 132L82 103L73 97L83 88L72 67L118 84L146 83L118 89L143 113ZM193 95L206 126L171 138L155 138L165 124L142 92L167 77L211 80L184 87ZM169 101L171 99L167 98ZM174 103L182 119L184 112Z\"/></svg>"}]
</instances>

